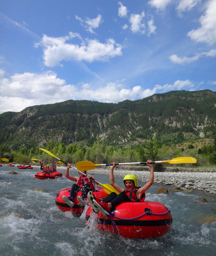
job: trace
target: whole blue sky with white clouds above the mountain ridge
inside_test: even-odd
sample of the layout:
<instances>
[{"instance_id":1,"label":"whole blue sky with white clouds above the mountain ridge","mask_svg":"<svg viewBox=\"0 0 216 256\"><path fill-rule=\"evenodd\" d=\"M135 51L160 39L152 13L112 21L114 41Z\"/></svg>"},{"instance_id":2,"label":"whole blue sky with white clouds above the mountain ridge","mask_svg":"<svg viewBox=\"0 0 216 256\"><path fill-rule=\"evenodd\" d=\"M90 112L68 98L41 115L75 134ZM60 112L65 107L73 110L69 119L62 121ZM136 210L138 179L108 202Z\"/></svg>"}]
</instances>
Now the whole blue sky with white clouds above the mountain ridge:
<instances>
[{"instance_id":1,"label":"whole blue sky with white clouds above the mountain ridge","mask_svg":"<svg viewBox=\"0 0 216 256\"><path fill-rule=\"evenodd\" d=\"M0 0L0 114L216 91L216 0Z\"/></svg>"}]
</instances>

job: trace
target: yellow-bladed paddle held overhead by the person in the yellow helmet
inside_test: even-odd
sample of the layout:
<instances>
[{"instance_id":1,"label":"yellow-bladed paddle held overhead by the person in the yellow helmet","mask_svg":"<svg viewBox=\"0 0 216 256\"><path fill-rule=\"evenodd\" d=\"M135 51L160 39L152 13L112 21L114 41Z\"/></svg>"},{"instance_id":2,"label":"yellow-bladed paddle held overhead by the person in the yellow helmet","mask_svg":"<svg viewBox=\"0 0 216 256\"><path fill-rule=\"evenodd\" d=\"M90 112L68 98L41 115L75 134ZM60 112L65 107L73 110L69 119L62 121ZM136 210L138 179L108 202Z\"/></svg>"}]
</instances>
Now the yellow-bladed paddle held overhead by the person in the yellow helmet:
<instances>
[{"instance_id":1,"label":"yellow-bladed paddle held overhead by the person in the yellow helmet","mask_svg":"<svg viewBox=\"0 0 216 256\"><path fill-rule=\"evenodd\" d=\"M171 163L171 164L177 164L177 163L196 163L196 158L191 157L182 157L182 158L174 158L172 160L165 160L165 161L155 161L152 163ZM136 162L136 163L116 163L115 165L127 165L127 164L145 164L147 162ZM79 171L86 171L86 170L93 170L97 166L109 166L113 165L112 163L104 163L104 164L94 164L90 161L81 161L76 163L76 167Z\"/></svg>"}]
</instances>

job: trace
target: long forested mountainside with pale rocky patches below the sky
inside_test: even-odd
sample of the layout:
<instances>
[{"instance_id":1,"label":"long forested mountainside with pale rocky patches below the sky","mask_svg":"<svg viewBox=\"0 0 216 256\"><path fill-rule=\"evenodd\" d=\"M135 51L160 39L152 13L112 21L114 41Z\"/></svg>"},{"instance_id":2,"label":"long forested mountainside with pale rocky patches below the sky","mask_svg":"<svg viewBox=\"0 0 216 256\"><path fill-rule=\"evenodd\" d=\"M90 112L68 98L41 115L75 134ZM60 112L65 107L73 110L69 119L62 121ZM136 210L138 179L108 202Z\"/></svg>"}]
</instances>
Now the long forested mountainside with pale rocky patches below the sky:
<instances>
[{"instance_id":1,"label":"long forested mountainside with pale rocky patches below the sky","mask_svg":"<svg viewBox=\"0 0 216 256\"><path fill-rule=\"evenodd\" d=\"M140 144L152 137L174 144L216 132L216 93L173 91L117 104L69 100L0 115L0 144L37 147L51 139L65 145Z\"/></svg>"}]
</instances>

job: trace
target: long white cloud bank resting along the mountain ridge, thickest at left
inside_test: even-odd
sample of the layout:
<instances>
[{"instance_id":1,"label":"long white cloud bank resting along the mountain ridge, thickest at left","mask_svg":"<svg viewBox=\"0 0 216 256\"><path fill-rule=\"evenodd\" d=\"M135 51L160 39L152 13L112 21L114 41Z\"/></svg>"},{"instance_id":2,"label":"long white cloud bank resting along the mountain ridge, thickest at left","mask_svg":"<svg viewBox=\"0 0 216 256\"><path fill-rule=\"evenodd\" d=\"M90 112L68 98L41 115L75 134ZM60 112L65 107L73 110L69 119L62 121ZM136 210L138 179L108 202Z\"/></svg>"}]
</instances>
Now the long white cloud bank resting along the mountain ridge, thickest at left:
<instances>
[{"instance_id":1,"label":"long white cloud bank resting along the mountain ridge, thickest at left","mask_svg":"<svg viewBox=\"0 0 216 256\"><path fill-rule=\"evenodd\" d=\"M140 85L125 88L121 83L106 83L93 90L91 84L66 84L54 72L14 74L9 79L0 77L0 113L20 112L28 106L52 104L68 99L88 99L107 103L118 103L125 99L136 100L155 94L157 91L182 90L193 87L193 82L176 81L173 85L155 85L153 89L143 89Z\"/></svg>"}]
</instances>

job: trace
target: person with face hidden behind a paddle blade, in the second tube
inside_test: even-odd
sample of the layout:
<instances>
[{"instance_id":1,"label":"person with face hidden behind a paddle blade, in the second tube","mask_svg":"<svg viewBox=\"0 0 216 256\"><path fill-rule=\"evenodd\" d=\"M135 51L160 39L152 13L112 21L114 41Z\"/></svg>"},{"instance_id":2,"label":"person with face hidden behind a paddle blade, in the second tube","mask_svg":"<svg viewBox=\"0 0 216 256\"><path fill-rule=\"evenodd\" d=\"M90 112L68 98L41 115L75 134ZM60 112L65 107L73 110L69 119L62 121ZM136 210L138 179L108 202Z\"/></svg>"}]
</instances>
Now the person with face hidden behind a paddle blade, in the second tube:
<instances>
[{"instance_id":1,"label":"person with face hidden behind a paddle blade, in the second tube","mask_svg":"<svg viewBox=\"0 0 216 256\"><path fill-rule=\"evenodd\" d=\"M76 193L81 191L81 196L77 197L77 200L79 201L79 205L82 207L84 205L83 200L86 198L88 192L94 190L94 184L98 185L98 182L95 181L94 177L90 174L87 174L87 171L79 172L79 177L74 177L69 175L69 169L71 164L67 164L67 169L65 172L65 177L70 180L76 182L76 184L73 184L70 190L70 196L63 196L63 201L68 204L70 207L74 206L74 196Z\"/></svg>"}]
</instances>

